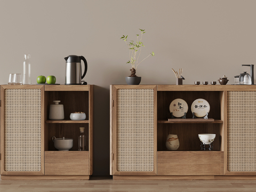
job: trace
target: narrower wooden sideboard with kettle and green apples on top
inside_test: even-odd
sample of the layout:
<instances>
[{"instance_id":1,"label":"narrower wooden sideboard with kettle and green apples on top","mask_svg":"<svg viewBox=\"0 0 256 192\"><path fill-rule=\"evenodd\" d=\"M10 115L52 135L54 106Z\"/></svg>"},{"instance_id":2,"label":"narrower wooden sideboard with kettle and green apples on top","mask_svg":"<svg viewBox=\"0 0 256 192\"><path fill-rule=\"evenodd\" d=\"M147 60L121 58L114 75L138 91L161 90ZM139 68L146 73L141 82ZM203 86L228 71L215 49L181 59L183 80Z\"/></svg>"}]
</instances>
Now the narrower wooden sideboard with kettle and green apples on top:
<instances>
[{"instance_id":1,"label":"narrower wooden sideboard with kettle and green apples on top","mask_svg":"<svg viewBox=\"0 0 256 192\"><path fill-rule=\"evenodd\" d=\"M65 119L49 119L60 100ZM71 121L83 111L86 119ZM87 151L78 151L85 127ZM73 148L58 151L52 137L73 138ZM93 173L93 85L1 85L1 179L89 179Z\"/></svg>"}]
</instances>

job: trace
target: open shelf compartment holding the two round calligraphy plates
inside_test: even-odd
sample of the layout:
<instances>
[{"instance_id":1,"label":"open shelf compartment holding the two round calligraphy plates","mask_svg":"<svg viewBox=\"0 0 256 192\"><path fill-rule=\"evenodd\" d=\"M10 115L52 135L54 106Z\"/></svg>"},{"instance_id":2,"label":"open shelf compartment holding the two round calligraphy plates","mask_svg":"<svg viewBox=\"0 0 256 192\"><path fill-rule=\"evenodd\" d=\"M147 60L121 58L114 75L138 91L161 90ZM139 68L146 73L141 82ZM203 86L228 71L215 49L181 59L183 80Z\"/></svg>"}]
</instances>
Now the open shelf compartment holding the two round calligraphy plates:
<instances>
[{"instance_id":1,"label":"open shelf compartment holding the two round calligraphy plates","mask_svg":"<svg viewBox=\"0 0 256 192\"><path fill-rule=\"evenodd\" d=\"M186 119L171 118L170 103L183 99L188 104ZM191 104L196 99L205 99L210 104L208 119L192 118ZM157 91L157 151L168 151L165 142L168 134L177 134L180 146L177 151L201 151L198 134L216 134L212 151L224 150L223 91ZM170 121L168 121L170 119ZM210 151L211 152L211 151Z\"/></svg>"}]
</instances>

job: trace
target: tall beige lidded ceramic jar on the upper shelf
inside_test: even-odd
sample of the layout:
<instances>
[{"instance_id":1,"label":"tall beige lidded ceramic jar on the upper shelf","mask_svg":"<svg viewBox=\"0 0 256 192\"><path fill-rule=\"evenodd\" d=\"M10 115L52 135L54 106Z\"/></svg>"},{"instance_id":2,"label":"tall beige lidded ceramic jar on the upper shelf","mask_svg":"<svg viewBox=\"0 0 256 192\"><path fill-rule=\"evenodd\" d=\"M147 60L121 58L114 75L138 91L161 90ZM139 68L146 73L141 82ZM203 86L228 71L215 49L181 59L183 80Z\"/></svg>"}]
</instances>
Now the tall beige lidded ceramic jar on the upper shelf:
<instances>
[{"instance_id":1,"label":"tall beige lidded ceramic jar on the upper shelf","mask_svg":"<svg viewBox=\"0 0 256 192\"><path fill-rule=\"evenodd\" d=\"M64 107L59 104L59 100L54 100L54 104L50 105L49 119L51 120L62 120L64 119Z\"/></svg>"}]
</instances>

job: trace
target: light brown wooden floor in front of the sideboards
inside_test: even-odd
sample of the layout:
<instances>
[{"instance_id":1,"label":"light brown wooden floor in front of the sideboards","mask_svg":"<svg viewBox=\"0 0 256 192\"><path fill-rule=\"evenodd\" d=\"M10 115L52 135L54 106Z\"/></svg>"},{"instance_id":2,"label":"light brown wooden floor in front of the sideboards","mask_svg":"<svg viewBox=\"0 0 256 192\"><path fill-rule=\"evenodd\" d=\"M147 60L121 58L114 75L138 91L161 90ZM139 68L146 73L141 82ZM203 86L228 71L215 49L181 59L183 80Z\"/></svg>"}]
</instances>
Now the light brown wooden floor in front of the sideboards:
<instances>
[{"instance_id":1,"label":"light brown wooden floor in front of the sideboards","mask_svg":"<svg viewBox=\"0 0 256 192\"><path fill-rule=\"evenodd\" d=\"M111 177L85 180L6 181L0 180L0 191L256 191L256 180L158 180L123 181Z\"/></svg>"}]
</instances>

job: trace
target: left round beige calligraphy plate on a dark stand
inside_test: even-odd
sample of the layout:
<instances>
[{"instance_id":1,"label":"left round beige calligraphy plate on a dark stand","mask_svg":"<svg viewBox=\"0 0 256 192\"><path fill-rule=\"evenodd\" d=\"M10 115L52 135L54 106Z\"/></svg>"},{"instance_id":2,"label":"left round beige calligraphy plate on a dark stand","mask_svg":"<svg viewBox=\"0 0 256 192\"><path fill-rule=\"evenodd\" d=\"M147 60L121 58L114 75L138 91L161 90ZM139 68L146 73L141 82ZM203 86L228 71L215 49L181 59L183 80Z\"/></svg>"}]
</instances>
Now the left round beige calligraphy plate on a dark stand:
<instances>
[{"instance_id":1,"label":"left round beige calligraphy plate on a dark stand","mask_svg":"<svg viewBox=\"0 0 256 192\"><path fill-rule=\"evenodd\" d=\"M174 117L182 117L188 113L188 103L183 99L174 99L169 109Z\"/></svg>"}]
</instances>

